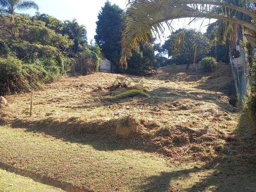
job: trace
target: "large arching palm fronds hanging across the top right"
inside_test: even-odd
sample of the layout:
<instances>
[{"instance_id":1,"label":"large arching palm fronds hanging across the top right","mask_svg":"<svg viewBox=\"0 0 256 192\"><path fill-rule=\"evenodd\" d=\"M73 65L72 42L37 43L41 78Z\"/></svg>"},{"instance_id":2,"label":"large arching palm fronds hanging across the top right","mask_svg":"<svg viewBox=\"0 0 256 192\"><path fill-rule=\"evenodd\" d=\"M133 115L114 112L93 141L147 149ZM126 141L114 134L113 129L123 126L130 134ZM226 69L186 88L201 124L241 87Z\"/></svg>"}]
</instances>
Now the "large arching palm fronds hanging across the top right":
<instances>
[{"instance_id":1,"label":"large arching palm fronds hanging across the top right","mask_svg":"<svg viewBox=\"0 0 256 192\"><path fill-rule=\"evenodd\" d=\"M170 20L177 18L214 18L244 26L249 33L248 41L256 46L256 25L236 17L243 14L256 22L256 0L241 0L245 6L236 6L220 0L130 0L126 11L125 28L122 35L120 63L127 66L130 50L138 43L149 42L154 34L164 32L165 22L172 28ZM222 12L220 13L219 10Z\"/></svg>"}]
</instances>

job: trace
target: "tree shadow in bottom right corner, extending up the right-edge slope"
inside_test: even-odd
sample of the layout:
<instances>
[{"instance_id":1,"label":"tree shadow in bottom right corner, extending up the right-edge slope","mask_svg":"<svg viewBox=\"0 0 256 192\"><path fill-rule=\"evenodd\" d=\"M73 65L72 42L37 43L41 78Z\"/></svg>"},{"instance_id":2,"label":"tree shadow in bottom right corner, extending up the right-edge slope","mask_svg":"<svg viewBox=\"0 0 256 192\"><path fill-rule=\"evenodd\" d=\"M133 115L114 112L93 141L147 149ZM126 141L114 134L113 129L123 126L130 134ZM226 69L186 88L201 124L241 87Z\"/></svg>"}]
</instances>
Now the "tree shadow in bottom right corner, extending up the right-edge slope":
<instances>
[{"instance_id":1,"label":"tree shadow in bottom right corner, extending up the right-edge slope","mask_svg":"<svg viewBox=\"0 0 256 192\"><path fill-rule=\"evenodd\" d=\"M144 178L143 183L139 189L144 192L256 192L256 133L241 116L217 160L202 167L162 172Z\"/></svg>"}]
</instances>

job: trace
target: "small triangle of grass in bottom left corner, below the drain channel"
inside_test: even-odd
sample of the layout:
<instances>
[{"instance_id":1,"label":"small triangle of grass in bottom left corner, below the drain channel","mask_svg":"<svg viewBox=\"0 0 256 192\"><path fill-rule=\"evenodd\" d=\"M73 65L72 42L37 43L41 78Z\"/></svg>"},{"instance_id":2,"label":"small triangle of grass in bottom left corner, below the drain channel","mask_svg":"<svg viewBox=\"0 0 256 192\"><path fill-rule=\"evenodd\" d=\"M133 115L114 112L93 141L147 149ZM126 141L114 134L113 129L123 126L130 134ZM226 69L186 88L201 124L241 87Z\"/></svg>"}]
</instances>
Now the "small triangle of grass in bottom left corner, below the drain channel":
<instances>
[{"instance_id":1,"label":"small triangle of grass in bottom left corner, below the drain channel","mask_svg":"<svg viewBox=\"0 0 256 192\"><path fill-rule=\"evenodd\" d=\"M0 192L64 192L52 186L34 182L30 178L0 169Z\"/></svg>"}]
</instances>

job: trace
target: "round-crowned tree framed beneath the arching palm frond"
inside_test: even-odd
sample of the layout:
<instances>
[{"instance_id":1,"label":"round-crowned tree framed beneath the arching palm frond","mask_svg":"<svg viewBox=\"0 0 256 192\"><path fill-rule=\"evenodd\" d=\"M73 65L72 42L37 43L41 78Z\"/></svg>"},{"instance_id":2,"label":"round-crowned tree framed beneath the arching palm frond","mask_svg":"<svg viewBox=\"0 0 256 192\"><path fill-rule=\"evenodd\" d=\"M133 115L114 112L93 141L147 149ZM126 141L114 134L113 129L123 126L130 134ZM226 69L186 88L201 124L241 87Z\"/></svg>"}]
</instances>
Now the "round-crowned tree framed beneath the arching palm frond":
<instances>
[{"instance_id":1,"label":"round-crowned tree framed beneath the arching palm frond","mask_svg":"<svg viewBox=\"0 0 256 192\"><path fill-rule=\"evenodd\" d=\"M194 60L200 60L210 51L210 41L202 33L193 29L179 29L169 36L163 45L169 57L187 64L187 68Z\"/></svg>"}]
</instances>

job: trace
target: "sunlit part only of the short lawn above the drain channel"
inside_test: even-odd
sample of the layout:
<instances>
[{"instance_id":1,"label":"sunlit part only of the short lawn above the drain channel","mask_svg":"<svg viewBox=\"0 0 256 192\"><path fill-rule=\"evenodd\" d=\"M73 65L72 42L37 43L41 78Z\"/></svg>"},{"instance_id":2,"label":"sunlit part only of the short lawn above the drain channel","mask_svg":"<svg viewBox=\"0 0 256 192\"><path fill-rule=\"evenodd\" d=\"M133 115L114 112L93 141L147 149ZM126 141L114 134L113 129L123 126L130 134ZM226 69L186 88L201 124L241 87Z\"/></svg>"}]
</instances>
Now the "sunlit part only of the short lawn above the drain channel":
<instances>
[{"instance_id":1,"label":"sunlit part only of the short lawn above the drain channel","mask_svg":"<svg viewBox=\"0 0 256 192\"><path fill-rule=\"evenodd\" d=\"M93 191L133 191L145 178L172 170L154 154L104 150L100 143L93 147L6 127L0 137L1 162Z\"/></svg>"}]
</instances>

